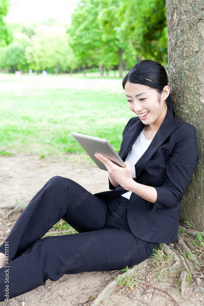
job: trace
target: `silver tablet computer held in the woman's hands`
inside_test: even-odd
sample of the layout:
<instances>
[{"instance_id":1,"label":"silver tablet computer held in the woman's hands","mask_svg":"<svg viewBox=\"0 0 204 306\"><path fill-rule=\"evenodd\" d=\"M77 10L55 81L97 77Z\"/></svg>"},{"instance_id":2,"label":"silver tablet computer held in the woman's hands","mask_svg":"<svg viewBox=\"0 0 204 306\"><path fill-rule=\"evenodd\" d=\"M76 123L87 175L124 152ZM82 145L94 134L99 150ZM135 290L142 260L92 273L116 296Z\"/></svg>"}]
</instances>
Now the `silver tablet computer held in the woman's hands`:
<instances>
[{"instance_id":1,"label":"silver tablet computer held in the woman's hands","mask_svg":"<svg viewBox=\"0 0 204 306\"><path fill-rule=\"evenodd\" d=\"M112 145L108 140L93 136L88 136L84 134L79 134L75 132L71 132L72 136L78 141L78 143L83 147L84 151L91 157L91 159L95 162L95 164L102 170L106 170L106 167L102 162L100 162L94 154L101 154L116 165L125 167L125 163L117 154L117 152L113 149Z\"/></svg>"}]
</instances>

